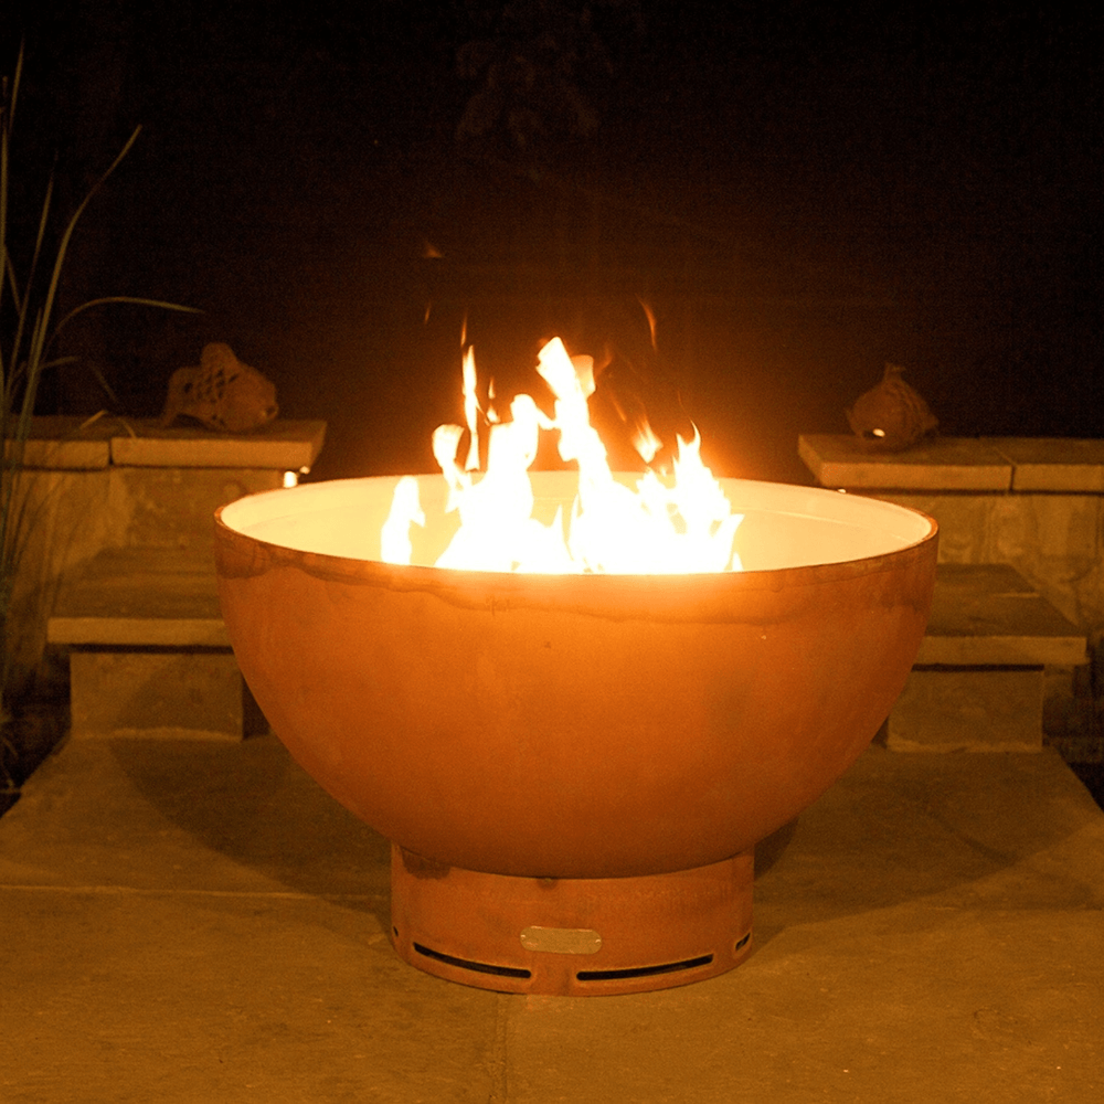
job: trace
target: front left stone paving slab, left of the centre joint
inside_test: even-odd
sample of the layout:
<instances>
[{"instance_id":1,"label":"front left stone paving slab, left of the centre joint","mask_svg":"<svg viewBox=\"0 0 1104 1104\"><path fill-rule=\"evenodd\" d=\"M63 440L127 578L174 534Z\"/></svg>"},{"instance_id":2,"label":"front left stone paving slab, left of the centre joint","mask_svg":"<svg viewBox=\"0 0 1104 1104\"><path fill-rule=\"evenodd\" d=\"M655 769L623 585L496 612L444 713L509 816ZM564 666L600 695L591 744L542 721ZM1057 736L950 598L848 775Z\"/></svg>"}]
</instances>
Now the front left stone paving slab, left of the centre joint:
<instances>
[{"instance_id":1,"label":"front left stone paving slab, left of the centre joint","mask_svg":"<svg viewBox=\"0 0 1104 1104\"><path fill-rule=\"evenodd\" d=\"M6 1104L490 1098L502 998L442 990L347 902L17 893L4 913L33 955L4 969Z\"/></svg>"}]
</instances>

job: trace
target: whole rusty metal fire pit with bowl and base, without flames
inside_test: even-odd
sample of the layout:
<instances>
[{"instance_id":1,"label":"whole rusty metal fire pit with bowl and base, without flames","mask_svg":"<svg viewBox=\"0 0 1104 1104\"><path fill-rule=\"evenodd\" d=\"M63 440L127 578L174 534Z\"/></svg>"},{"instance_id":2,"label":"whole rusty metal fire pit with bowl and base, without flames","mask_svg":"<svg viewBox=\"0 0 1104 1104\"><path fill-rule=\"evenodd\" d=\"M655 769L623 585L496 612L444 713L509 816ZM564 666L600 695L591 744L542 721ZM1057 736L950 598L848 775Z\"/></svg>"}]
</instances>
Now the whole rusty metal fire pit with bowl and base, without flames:
<instances>
[{"instance_id":1,"label":"whole rusty metal fire pit with bowl and base, without flames","mask_svg":"<svg viewBox=\"0 0 1104 1104\"><path fill-rule=\"evenodd\" d=\"M395 482L241 499L216 516L215 552L273 729L392 840L397 953L511 992L731 969L751 949L755 843L851 765L904 686L935 523L722 480L744 572L461 572L379 561ZM420 484L442 516L444 480ZM551 518L575 476L533 486ZM415 564L453 524L429 523Z\"/></svg>"}]
</instances>

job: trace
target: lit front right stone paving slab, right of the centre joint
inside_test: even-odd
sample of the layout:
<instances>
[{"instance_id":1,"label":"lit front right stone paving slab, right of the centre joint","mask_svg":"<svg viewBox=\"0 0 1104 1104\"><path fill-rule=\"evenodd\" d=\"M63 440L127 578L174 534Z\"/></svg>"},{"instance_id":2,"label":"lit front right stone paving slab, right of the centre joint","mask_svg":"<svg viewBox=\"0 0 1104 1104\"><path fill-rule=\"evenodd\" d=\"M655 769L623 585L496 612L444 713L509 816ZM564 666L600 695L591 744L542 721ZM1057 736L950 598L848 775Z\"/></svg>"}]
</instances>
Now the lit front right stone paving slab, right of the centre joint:
<instances>
[{"instance_id":1,"label":"lit front right stone paving slab, right of the centre joint","mask_svg":"<svg viewBox=\"0 0 1104 1104\"><path fill-rule=\"evenodd\" d=\"M1087 1015L1070 1022L1066 994L1080 984L1085 1013L1093 994L1073 964L1055 970L1055 919L1079 947L1098 946L1087 916L978 925L913 906L787 927L739 977L637 998L629 1029L607 1001L529 998L510 1020L508 1098L597 1100L601 1063L616 1085L606 1100L1087 1102L1100 1038ZM1009 977L1025 938L1023 974ZM1057 985L1025 988L1029 974ZM581 1040L593 1040L582 1054Z\"/></svg>"}]
</instances>

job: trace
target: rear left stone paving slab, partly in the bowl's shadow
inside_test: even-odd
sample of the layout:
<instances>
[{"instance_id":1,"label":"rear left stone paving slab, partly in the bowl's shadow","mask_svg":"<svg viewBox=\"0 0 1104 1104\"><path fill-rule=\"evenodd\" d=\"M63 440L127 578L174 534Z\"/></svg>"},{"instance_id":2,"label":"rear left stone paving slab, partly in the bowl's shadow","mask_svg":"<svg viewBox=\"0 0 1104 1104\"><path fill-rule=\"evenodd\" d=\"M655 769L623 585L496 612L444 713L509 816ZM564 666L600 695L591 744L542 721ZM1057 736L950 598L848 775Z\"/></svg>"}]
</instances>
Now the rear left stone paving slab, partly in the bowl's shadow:
<instances>
[{"instance_id":1,"label":"rear left stone paving slab, partly in the bowl's shadow","mask_svg":"<svg viewBox=\"0 0 1104 1104\"><path fill-rule=\"evenodd\" d=\"M390 858L273 737L73 742L0 819L0 884L386 902Z\"/></svg>"}]
</instances>

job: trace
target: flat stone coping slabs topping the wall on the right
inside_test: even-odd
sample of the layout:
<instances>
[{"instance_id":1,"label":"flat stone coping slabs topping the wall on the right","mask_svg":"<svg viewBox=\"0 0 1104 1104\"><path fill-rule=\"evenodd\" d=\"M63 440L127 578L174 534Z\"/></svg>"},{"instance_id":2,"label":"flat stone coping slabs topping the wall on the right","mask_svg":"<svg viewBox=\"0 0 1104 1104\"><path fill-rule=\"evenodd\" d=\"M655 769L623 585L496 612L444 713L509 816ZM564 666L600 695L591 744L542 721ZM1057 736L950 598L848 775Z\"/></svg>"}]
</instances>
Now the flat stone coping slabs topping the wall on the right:
<instances>
[{"instance_id":1,"label":"flat stone coping slabs topping the wall on the right","mask_svg":"<svg viewBox=\"0 0 1104 1104\"><path fill-rule=\"evenodd\" d=\"M935 437L904 453L871 453L846 434L802 434L797 452L825 487L1104 493L1104 440Z\"/></svg>"}]
</instances>

